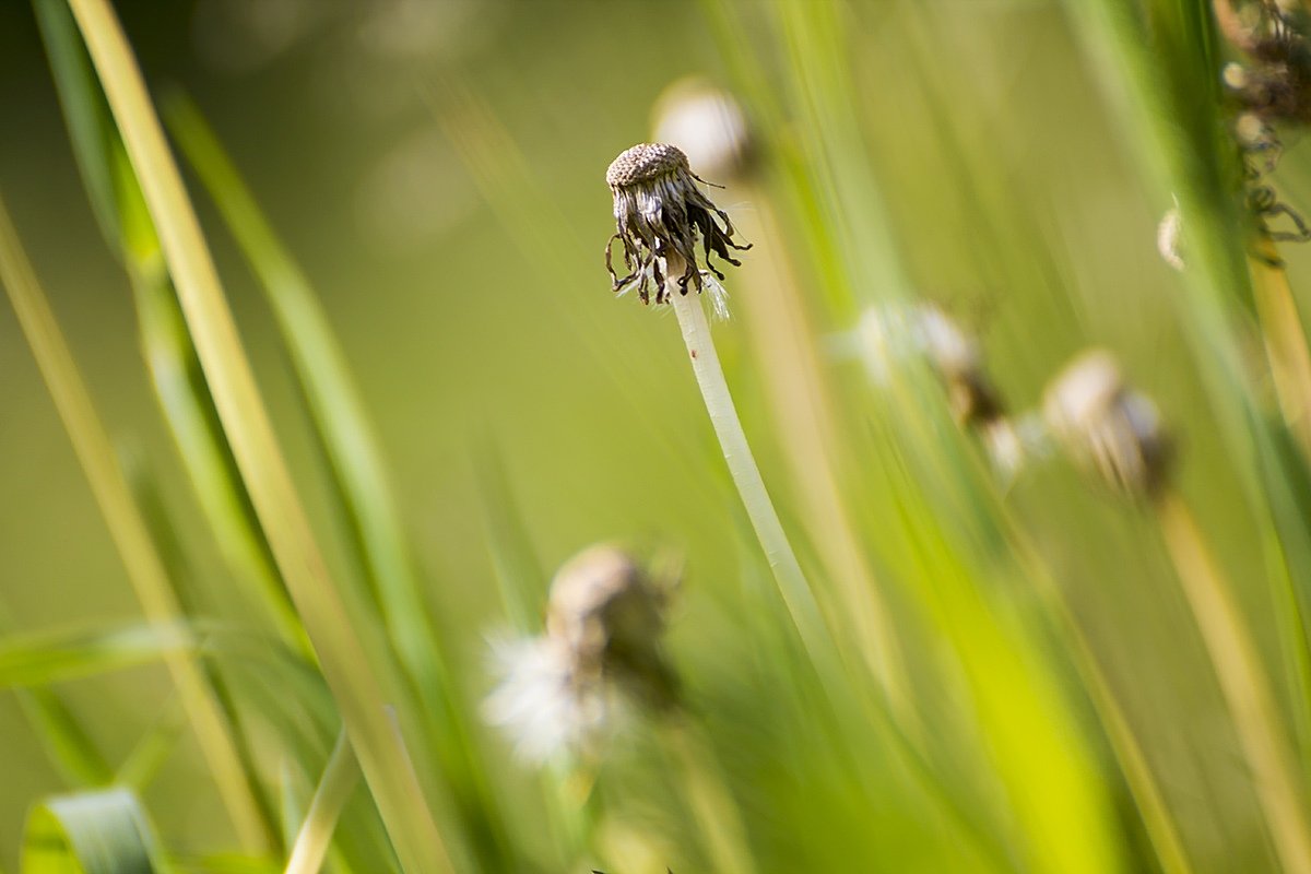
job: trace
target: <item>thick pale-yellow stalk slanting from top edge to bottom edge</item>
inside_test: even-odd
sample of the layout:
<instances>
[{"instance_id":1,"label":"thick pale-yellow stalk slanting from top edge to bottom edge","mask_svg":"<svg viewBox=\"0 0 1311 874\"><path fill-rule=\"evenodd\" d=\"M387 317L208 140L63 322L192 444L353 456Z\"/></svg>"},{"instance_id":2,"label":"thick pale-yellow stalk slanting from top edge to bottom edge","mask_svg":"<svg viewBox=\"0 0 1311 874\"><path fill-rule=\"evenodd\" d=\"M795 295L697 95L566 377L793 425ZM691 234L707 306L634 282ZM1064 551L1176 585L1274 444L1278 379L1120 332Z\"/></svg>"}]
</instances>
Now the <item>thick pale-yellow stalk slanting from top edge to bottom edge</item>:
<instances>
[{"instance_id":1,"label":"thick pale-yellow stalk slanting from top edge to bottom edge","mask_svg":"<svg viewBox=\"0 0 1311 874\"><path fill-rule=\"evenodd\" d=\"M370 658L315 542L127 37L108 0L69 0L69 7L159 228L237 466L396 853L410 874L454 871L418 777L384 709L384 689L393 688L393 677Z\"/></svg>"}]
</instances>

